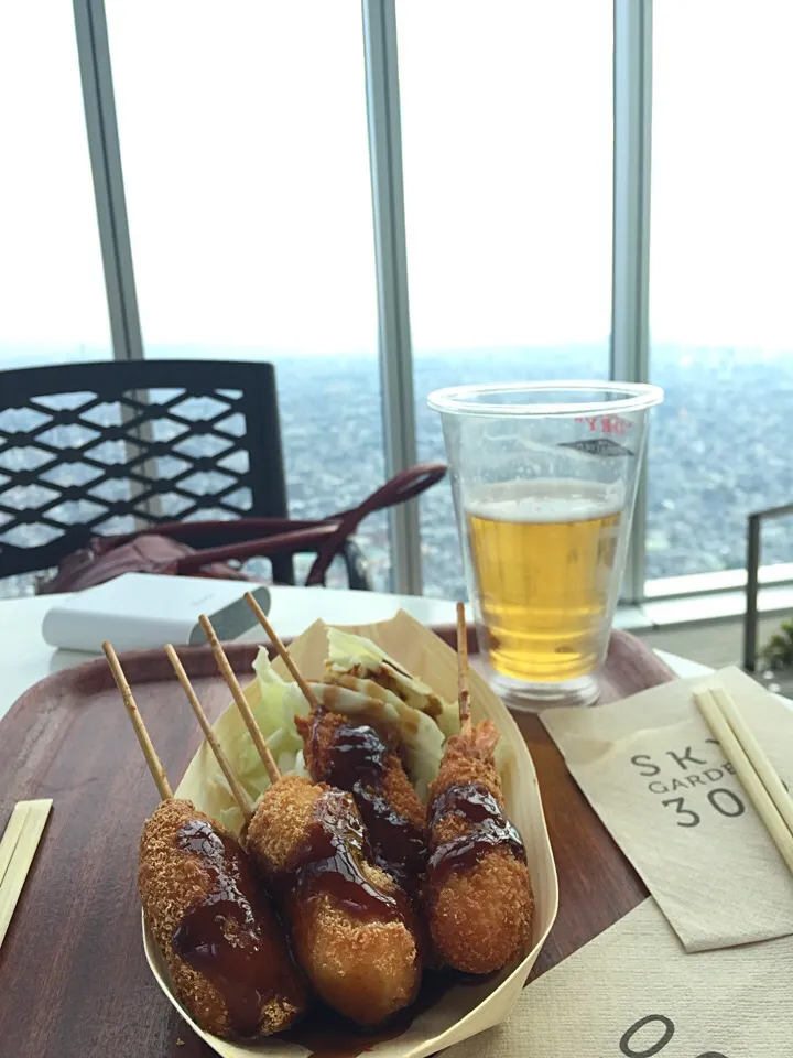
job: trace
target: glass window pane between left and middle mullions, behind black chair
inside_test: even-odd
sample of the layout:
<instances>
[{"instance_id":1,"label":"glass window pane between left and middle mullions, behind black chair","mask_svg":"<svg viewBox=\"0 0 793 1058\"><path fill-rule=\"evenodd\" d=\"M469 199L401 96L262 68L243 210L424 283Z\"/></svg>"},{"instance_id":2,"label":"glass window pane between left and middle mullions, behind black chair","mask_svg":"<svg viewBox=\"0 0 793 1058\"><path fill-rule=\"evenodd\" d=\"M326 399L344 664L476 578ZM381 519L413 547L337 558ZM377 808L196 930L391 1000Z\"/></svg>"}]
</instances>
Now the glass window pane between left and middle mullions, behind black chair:
<instances>
[{"instance_id":1,"label":"glass window pane between left and middle mullions, behind black chair","mask_svg":"<svg viewBox=\"0 0 793 1058\"><path fill-rule=\"evenodd\" d=\"M360 4L107 11L146 355L274 363L291 514L350 507L383 479Z\"/></svg>"}]
</instances>

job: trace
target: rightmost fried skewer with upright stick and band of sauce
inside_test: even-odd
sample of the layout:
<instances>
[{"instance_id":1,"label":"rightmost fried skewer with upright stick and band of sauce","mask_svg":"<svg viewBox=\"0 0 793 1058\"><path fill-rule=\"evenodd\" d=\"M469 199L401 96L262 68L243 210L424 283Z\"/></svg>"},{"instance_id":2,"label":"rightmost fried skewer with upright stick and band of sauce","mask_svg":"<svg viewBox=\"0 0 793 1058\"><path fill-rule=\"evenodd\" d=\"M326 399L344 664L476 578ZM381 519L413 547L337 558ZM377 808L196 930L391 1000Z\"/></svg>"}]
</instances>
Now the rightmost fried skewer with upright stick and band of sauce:
<instances>
[{"instance_id":1,"label":"rightmost fried skewer with upright stick and band of sauce","mask_svg":"<svg viewBox=\"0 0 793 1058\"><path fill-rule=\"evenodd\" d=\"M511 962L531 936L525 850L503 811L491 721L470 721L465 609L457 607L460 733L448 739L430 788L425 908L445 961L468 973Z\"/></svg>"}]
</instances>

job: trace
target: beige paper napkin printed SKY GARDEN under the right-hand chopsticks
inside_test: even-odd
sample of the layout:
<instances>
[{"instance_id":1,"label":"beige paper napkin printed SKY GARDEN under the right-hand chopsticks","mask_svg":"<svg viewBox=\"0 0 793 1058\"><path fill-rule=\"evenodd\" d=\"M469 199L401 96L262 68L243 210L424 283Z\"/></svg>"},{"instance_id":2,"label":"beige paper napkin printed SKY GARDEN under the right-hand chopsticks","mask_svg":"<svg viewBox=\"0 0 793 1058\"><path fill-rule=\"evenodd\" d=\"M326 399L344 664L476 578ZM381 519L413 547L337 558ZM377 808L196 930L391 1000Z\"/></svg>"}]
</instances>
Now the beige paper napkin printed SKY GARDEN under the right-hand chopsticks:
<instances>
[{"instance_id":1,"label":"beige paper napkin printed SKY GARDEN under the right-hand chopsticks","mask_svg":"<svg viewBox=\"0 0 793 1058\"><path fill-rule=\"evenodd\" d=\"M542 714L688 951L793 933L793 875L692 699L716 684L793 786L793 711L739 669Z\"/></svg>"}]
</instances>

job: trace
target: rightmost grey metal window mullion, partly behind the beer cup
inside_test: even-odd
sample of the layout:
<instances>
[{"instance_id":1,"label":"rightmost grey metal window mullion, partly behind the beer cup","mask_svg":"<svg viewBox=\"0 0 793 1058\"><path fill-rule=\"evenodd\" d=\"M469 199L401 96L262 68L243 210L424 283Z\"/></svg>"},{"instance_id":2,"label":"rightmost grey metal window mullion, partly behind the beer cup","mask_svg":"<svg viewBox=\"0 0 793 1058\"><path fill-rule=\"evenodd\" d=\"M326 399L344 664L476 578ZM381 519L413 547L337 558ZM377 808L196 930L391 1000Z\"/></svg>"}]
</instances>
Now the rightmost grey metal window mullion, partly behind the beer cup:
<instances>
[{"instance_id":1,"label":"rightmost grey metal window mullion, partly behind the beer cup","mask_svg":"<svg viewBox=\"0 0 793 1058\"><path fill-rule=\"evenodd\" d=\"M648 381L652 0L615 0L613 249L610 375ZM639 479L623 598L644 594L645 474Z\"/></svg>"}]
</instances>

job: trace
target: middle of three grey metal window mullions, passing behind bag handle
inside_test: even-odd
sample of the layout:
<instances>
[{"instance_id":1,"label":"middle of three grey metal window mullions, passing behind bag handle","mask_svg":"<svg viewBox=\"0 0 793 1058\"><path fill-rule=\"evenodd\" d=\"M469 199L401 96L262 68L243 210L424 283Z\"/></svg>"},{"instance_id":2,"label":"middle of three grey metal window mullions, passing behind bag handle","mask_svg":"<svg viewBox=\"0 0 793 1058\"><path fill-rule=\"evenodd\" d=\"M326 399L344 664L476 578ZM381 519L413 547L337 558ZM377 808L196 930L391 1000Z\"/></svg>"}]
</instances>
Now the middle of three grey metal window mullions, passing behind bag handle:
<instances>
[{"instance_id":1,"label":"middle of three grey metal window mullions, passing behind bag handle","mask_svg":"<svg viewBox=\"0 0 793 1058\"><path fill-rule=\"evenodd\" d=\"M385 471L416 462L413 353L402 184L402 129L394 0L362 0L367 123L378 289L378 346ZM395 591L421 594L421 535L415 500L390 511Z\"/></svg>"}]
</instances>

